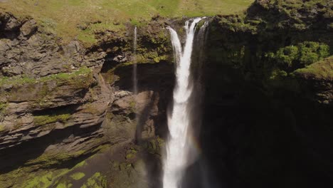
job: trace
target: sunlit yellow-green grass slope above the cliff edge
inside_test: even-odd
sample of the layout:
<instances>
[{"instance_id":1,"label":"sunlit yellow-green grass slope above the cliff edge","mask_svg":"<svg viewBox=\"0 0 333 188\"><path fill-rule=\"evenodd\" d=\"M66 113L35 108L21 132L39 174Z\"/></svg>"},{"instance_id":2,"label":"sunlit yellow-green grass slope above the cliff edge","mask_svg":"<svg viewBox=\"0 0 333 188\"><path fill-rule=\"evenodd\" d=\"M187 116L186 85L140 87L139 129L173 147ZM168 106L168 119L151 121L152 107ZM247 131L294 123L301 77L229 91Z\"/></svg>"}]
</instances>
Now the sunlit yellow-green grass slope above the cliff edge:
<instances>
[{"instance_id":1,"label":"sunlit yellow-green grass slope above the cliff edge","mask_svg":"<svg viewBox=\"0 0 333 188\"><path fill-rule=\"evenodd\" d=\"M19 18L31 16L40 29L55 33L64 41L78 38L95 43L100 29L117 31L124 23L139 24L153 16L213 16L246 9L253 0L7 0L0 11Z\"/></svg>"}]
</instances>

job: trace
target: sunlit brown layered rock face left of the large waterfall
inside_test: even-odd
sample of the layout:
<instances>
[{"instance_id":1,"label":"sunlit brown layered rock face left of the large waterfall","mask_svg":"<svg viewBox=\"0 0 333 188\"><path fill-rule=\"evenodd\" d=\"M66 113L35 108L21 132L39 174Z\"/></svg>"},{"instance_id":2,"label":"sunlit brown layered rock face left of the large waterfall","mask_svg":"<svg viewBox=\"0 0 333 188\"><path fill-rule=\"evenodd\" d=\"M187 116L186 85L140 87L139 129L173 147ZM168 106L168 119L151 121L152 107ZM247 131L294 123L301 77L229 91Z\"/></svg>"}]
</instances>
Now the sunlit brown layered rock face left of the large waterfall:
<instances>
[{"instance_id":1,"label":"sunlit brown layered rock face left of the large waterfall","mask_svg":"<svg viewBox=\"0 0 333 188\"><path fill-rule=\"evenodd\" d=\"M134 56L130 32L99 33L100 43L84 48L78 41L61 44L33 19L0 14L0 21L1 188L48 187L60 177L35 177L111 145L145 144L164 129L174 73L160 22L140 28L152 32L142 32Z\"/></svg>"}]
</instances>

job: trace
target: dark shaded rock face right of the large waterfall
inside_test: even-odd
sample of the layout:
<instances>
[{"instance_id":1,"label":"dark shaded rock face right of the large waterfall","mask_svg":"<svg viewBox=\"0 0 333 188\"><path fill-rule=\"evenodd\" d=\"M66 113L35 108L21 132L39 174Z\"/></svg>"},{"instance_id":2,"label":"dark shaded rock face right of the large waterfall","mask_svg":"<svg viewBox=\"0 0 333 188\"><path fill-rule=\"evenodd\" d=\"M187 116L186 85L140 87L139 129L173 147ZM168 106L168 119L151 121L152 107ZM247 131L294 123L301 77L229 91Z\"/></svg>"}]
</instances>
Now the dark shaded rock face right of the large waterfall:
<instances>
[{"instance_id":1,"label":"dark shaded rock face right of the large waterfall","mask_svg":"<svg viewBox=\"0 0 333 188\"><path fill-rule=\"evenodd\" d=\"M291 66L280 64L307 41L332 55L332 5L255 1L245 14L211 22L201 144L212 187L332 185L331 58L305 68L303 53L319 56L305 45Z\"/></svg>"}]
</instances>

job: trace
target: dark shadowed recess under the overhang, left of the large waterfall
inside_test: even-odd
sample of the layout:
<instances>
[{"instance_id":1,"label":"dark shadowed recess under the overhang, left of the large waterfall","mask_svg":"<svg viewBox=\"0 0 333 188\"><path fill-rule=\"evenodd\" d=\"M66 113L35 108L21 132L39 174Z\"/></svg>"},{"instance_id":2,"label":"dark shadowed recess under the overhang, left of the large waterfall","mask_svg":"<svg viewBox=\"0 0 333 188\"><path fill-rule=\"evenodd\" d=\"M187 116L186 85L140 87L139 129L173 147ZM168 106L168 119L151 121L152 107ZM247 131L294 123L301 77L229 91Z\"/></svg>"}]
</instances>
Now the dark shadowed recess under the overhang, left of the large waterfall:
<instances>
[{"instance_id":1,"label":"dark shadowed recess under the overhang, left of the large waterfall","mask_svg":"<svg viewBox=\"0 0 333 188\"><path fill-rule=\"evenodd\" d=\"M119 76L120 80L115 82L115 88L118 90L133 90L132 68L132 65L117 68L115 75ZM137 81L139 93L150 90L154 93L154 98L157 98L158 95L157 108L159 112L152 118L154 119L156 134L161 137L166 136L166 109L172 99L171 93L174 88L174 64L165 61L154 64L138 64ZM152 103L153 101L151 100ZM144 122L144 119L139 121Z\"/></svg>"}]
</instances>

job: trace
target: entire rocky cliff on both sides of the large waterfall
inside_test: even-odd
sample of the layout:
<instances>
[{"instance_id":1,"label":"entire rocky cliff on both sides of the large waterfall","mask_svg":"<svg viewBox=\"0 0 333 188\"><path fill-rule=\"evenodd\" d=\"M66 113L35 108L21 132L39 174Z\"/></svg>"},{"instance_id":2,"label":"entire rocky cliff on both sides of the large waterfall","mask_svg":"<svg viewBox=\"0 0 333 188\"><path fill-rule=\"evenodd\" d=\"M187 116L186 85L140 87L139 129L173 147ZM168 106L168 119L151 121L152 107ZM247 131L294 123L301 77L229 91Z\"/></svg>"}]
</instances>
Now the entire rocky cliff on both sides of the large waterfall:
<instances>
[{"instance_id":1,"label":"entire rocky cliff on both sides of the large waterfall","mask_svg":"<svg viewBox=\"0 0 333 188\"><path fill-rule=\"evenodd\" d=\"M186 18L166 11L67 31L41 21L41 10L31 17L4 7L0 187L159 187L174 87L165 27L181 33ZM216 184L330 184L332 7L258 0L244 12L209 18L199 142Z\"/></svg>"}]
</instances>

